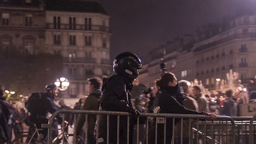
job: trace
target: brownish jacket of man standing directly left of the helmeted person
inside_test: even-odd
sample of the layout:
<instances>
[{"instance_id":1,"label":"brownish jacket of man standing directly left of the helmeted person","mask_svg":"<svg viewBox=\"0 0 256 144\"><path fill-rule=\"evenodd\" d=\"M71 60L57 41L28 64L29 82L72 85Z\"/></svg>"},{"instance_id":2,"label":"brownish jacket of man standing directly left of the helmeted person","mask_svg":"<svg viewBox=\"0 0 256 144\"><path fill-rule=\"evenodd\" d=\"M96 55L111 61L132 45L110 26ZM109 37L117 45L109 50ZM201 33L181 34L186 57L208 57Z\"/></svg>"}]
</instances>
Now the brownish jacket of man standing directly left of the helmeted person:
<instances>
[{"instance_id":1,"label":"brownish jacket of man standing directly left of the helmeted person","mask_svg":"<svg viewBox=\"0 0 256 144\"><path fill-rule=\"evenodd\" d=\"M102 95L101 89L94 89L86 98L82 110L99 110L101 95ZM93 135L96 119L97 119L96 115L88 115L87 130L88 130L88 134L90 135ZM77 124L77 128L76 128L77 134L80 134L83 128L84 122L85 122L85 114L81 114Z\"/></svg>"}]
</instances>

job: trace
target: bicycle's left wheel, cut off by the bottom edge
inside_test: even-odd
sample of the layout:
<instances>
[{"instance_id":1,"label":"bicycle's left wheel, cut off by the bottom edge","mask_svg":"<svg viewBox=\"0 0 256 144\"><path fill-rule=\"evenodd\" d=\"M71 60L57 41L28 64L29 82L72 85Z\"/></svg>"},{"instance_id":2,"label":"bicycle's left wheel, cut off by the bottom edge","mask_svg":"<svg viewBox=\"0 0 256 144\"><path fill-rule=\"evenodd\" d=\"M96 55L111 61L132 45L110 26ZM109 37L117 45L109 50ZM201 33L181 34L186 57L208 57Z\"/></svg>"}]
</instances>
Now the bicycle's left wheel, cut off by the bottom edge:
<instances>
[{"instance_id":1,"label":"bicycle's left wheel, cut off by the bottom edge","mask_svg":"<svg viewBox=\"0 0 256 144\"><path fill-rule=\"evenodd\" d=\"M30 141L30 142L29 142ZM12 140L11 144L40 144L41 142L37 141L35 138L32 138L30 135L20 135L15 137Z\"/></svg>"}]
</instances>

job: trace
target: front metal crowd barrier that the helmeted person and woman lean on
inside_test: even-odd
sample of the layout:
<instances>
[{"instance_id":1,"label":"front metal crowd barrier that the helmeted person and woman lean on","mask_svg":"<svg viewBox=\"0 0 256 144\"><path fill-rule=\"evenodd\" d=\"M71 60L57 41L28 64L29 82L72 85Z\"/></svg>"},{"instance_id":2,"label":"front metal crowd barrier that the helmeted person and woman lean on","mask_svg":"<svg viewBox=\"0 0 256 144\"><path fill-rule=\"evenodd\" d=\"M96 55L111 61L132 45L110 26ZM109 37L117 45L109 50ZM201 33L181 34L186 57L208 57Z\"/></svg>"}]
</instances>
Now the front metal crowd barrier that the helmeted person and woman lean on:
<instances>
[{"instance_id":1,"label":"front metal crowd barrier that the helmeted person and woman lean on","mask_svg":"<svg viewBox=\"0 0 256 144\"><path fill-rule=\"evenodd\" d=\"M120 116L127 116L127 144L129 144L129 141L132 141L133 139L129 139L129 117L131 114L128 112L119 112L119 111L84 111L84 110L67 110L62 109L55 111L49 119L48 124L42 124L43 128L48 128L48 144L52 144L52 129L53 129L53 121L54 118L58 115L62 114L63 121L62 125L64 125L64 117L65 114L74 114L74 130L73 130L73 144L76 144L76 117L78 114L85 114L85 144L88 143L88 136L87 136L87 125L88 125L88 114L89 115L97 115L97 121L99 119L99 115L107 115L107 144L109 144L109 116L117 116L117 144L119 144L119 123L120 123ZM236 135L236 125L233 119L229 116L217 116L215 121L211 121L210 116L205 115L189 115L189 114L163 114L163 113L141 113L139 117L137 117L137 135L133 137L136 138L136 143L140 144L139 142L139 119L142 117L146 117L146 125L145 125L145 139L146 144L148 144L148 132L149 132L149 117L155 117L156 121L154 123L156 124L156 130L155 130L155 144L157 143L157 125L164 124L164 144L166 144L166 118L172 118L172 141L171 143L174 144L175 139L175 119L180 118L180 144L183 144L183 121L188 121L188 131L189 131L189 137L188 141L189 144L199 144L199 140L201 139L201 142L203 144L235 144L235 135ZM194 125L192 123L194 121ZM97 125L97 139L96 143L98 144L98 125L99 123L95 123ZM194 128L192 128L194 127ZM62 132L64 132L64 127L62 127ZM62 143L66 144L65 139L62 139Z\"/></svg>"}]
</instances>

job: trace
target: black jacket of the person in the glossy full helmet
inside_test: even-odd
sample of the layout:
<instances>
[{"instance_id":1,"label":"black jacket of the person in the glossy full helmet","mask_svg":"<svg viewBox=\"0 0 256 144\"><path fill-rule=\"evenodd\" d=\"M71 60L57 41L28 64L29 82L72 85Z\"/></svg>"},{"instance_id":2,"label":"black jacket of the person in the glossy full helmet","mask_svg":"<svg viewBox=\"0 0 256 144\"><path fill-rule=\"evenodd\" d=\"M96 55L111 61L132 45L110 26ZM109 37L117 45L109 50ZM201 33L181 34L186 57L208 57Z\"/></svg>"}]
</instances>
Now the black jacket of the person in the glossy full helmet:
<instances>
[{"instance_id":1,"label":"black jacket of the person in the glossy full helmet","mask_svg":"<svg viewBox=\"0 0 256 144\"><path fill-rule=\"evenodd\" d=\"M102 96L100 98L101 111L125 111L133 109L131 104L130 90L132 89L131 82L127 78L116 74L103 79ZM97 121L96 121L97 124ZM96 127L94 136L96 137ZM107 140L107 116L99 116L99 138ZM132 144L133 125L130 117L129 143ZM117 141L117 116L109 116L109 143ZM119 123L119 142L120 144L127 143L127 116L120 116Z\"/></svg>"}]
</instances>

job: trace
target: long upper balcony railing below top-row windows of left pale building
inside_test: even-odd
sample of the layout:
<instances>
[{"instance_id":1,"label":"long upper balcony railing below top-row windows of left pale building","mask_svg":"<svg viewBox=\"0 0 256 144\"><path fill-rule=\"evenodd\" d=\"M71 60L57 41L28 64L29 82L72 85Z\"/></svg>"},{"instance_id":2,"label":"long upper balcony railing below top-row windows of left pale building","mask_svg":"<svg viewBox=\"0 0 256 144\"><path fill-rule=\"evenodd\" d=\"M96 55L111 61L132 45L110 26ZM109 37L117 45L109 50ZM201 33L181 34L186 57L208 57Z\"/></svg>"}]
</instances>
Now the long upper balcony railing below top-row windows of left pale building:
<instances>
[{"instance_id":1,"label":"long upper balcony railing below top-row windows of left pale building","mask_svg":"<svg viewBox=\"0 0 256 144\"><path fill-rule=\"evenodd\" d=\"M95 26L95 25L78 25L78 24L55 24L55 23L46 23L47 29L56 29L56 30L94 30L110 33L109 27L105 26Z\"/></svg>"}]
</instances>

